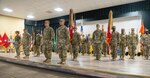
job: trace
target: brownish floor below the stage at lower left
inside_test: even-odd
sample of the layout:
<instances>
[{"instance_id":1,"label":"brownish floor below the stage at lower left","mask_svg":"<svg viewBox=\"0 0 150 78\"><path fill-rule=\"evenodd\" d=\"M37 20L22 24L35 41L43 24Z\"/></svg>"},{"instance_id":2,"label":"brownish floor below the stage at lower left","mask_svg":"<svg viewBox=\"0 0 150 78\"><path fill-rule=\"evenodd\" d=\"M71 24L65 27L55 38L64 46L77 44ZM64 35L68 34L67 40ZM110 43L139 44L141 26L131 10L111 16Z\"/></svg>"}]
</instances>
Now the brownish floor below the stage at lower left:
<instances>
[{"instance_id":1,"label":"brownish floor below the stage at lower left","mask_svg":"<svg viewBox=\"0 0 150 78\"><path fill-rule=\"evenodd\" d=\"M87 78L0 61L0 78Z\"/></svg>"}]
</instances>

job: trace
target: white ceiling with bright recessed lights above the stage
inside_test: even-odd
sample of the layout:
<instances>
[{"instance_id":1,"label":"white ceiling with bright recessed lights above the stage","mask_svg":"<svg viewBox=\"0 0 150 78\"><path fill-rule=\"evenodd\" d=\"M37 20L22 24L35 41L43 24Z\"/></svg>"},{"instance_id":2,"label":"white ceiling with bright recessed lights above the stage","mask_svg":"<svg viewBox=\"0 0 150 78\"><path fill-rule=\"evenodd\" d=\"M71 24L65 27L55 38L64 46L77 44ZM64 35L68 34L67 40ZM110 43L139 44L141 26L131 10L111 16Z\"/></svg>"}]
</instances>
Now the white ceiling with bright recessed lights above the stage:
<instances>
[{"instance_id":1,"label":"white ceiling with bright recessed lights above the stage","mask_svg":"<svg viewBox=\"0 0 150 78\"><path fill-rule=\"evenodd\" d=\"M19 18L34 15L33 20L42 20L67 15L70 8L73 8L74 12L77 13L138 1L143 0L0 0L0 14ZM13 12L4 12L3 8L5 7L13 9ZM58 7L64 9L64 11L54 11L54 8Z\"/></svg>"}]
</instances>

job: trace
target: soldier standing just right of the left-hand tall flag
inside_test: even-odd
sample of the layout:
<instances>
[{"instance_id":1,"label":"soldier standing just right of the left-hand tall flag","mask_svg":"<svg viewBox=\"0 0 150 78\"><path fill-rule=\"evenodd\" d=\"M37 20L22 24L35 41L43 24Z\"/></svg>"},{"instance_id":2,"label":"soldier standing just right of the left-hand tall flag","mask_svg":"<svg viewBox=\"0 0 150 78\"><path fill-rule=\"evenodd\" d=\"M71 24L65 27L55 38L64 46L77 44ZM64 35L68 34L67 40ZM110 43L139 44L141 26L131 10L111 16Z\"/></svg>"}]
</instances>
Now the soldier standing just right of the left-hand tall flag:
<instances>
[{"instance_id":1,"label":"soldier standing just right of the left-hand tall flag","mask_svg":"<svg viewBox=\"0 0 150 78\"><path fill-rule=\"evenodd\" d=\"M79 53L79 45L80 45L80 34L77 32L77 28L74 28L74 33L72 36L72 51L73 51L73 61L77 60Z\"/></svg>"}]
</instances>

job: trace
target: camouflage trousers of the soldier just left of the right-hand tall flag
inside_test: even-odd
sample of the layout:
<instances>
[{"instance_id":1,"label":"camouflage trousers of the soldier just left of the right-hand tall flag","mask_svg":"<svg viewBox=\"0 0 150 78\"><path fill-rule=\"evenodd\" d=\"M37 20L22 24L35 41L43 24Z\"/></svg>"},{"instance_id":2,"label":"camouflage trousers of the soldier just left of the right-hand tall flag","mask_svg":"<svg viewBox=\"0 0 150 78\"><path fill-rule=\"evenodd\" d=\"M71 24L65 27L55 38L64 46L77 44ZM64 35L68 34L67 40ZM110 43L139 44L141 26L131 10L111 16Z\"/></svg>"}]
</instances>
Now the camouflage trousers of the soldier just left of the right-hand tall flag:
<instances>
[{"instance_id":1,"label":"camouflage trousers of the soldier just left of the right-hand tall flag","mask_svg":"<svg viewBox=\"0 0 150 78\"><path fill-rule=\"evenodd\" d=\"M96 60L100 60L101 56L102 56L102 46L100 43L95 43L94 44L94 48L95 48L95 55L96 55Z\"/></svg>"}]
</instances>

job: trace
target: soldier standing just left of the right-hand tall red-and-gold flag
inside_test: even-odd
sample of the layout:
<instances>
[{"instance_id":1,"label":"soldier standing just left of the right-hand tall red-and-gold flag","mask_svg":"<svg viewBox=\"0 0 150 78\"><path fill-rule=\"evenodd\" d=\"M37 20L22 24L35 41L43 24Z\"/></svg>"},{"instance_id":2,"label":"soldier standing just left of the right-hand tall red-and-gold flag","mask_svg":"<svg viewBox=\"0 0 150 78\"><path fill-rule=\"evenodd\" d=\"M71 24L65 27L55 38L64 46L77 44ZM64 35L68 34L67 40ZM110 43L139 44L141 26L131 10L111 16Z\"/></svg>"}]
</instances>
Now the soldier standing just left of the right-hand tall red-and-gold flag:
<instances>
[{"instance_id":1,"label":"soldier standing just left of the right-hand tall red-and-gold flag","mask_svg":"<svg viewBox=\"0 0 150 78\"><path fill-rule=\"evenodd\" d=\"M94 48L95 48L95 53L96 53L96 60L100 60L101 55L102 55L102 44L104 42L104 34L103 32L99 29L100 25L96 25L96 30L93 32L93 43L94 43Z\"/></svg>"}]
</instances>

